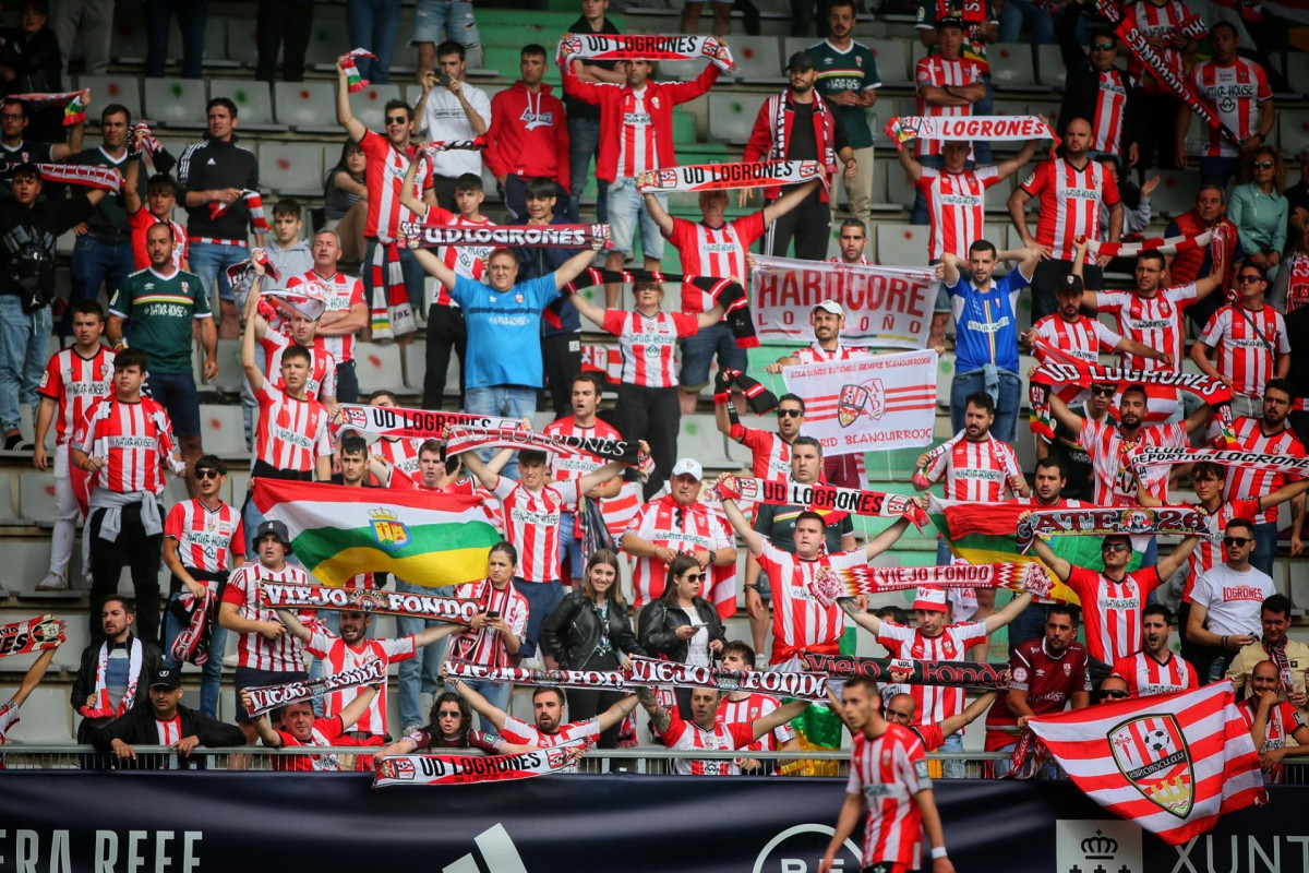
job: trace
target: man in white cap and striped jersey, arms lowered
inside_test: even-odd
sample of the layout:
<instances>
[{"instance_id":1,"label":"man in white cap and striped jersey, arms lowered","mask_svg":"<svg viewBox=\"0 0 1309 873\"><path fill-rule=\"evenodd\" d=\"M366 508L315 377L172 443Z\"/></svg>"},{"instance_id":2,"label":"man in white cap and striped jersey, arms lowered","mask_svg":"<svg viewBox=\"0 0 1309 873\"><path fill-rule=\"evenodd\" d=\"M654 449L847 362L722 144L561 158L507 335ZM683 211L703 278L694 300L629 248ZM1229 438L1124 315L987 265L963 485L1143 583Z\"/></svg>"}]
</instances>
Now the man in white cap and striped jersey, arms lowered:
<instances>
[{"instance_id":1,"label":"man in white cap and striped jersey, arms lowered","mask_svg":"<svg viewBox=\"0 0 1309 873\"><path fill-rule=\"evenodd\" d=\"M700 597L721 618L736 613L737 550L728 524L700 500L704 469L694 458L673 465L669 491L645 503L623 531L620 548L636 560L632 569L632 610L664 594L668 565L689 554L704 571Z\"/></svg>"}]
</instances>

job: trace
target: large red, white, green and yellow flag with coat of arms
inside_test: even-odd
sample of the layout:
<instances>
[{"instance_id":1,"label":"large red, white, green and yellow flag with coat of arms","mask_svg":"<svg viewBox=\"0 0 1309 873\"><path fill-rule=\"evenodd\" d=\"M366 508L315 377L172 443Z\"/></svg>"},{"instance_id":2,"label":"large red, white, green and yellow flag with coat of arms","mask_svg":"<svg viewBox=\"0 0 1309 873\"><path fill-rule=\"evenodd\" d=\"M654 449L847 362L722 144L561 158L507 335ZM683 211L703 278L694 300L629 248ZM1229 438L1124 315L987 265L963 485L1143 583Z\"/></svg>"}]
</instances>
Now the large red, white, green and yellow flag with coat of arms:
<instances>
[{"instance_id":1,"label":"large red, white, green and yellow flag with coat of arms","mask_svg":"<svg viewBox=\"0 0 1309 873\"><path fill-rule=\"evenodd\" d=\"M500 542L474 496L257 478L254 503L285 522L296 558L331 586L368 572L427 586L483 579Z\"/></svg>"}]
</instances>

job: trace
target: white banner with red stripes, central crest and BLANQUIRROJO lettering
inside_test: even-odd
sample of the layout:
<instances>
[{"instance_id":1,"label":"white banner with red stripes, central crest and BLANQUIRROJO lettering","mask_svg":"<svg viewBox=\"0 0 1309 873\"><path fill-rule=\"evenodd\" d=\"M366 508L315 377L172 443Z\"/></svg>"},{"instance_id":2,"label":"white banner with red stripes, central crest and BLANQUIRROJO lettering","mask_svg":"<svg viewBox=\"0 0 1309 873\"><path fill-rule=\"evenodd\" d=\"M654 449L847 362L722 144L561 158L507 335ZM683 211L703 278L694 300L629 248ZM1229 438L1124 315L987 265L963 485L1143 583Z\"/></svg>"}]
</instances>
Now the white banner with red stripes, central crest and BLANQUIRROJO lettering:
<instances>
[{"instance_id":1,"label":"white banner with red stripes, central crest and BLANQUIRROJO lettering","mask_svg":"<svg viewBox=\"0 0 1309 873\"><path fill-rule=\"evenodd\" d=\"M805 399L805 435L823 455L924 446L936 420L936 352L869 355L781 372Z\"/></svg>"}]
</instances>

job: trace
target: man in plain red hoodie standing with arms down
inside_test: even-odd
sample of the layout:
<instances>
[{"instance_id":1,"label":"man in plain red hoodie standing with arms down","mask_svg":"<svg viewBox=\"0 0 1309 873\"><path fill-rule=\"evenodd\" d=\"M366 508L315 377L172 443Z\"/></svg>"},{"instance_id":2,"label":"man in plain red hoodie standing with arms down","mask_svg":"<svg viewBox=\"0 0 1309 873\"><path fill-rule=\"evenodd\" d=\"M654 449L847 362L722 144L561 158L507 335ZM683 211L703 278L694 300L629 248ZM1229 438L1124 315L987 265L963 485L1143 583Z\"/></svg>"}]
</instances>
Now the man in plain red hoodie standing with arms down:
<instances>
[{"instance_id":1,"label":"man in plain red hoodie standing with arms down","mask_svg":"<svg viewBox=\"0 0 1309 873\"><path fill-rule=\"evenodd\" d=\"M487 130L487 168L500 183L500 198L516 224L528 220L528 179L546 177L559 185L559 203L568 203L568 122L564 105L551 96L546 76L546 50L522 47L518 71L522 79L491 99Z\"/></svg>"}]
</instances>

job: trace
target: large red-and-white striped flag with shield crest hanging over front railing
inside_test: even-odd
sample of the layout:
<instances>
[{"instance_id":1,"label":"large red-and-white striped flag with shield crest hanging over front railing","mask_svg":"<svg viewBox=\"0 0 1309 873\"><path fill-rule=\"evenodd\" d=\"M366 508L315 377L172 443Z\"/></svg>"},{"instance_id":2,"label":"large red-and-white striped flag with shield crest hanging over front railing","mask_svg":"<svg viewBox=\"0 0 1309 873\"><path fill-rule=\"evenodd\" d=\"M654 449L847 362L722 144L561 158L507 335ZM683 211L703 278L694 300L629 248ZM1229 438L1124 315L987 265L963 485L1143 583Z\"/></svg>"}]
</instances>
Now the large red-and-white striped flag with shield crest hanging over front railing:
<instances>
[{"instance_id":1,"label":"large red-and-white striped flag with shield crest hanging over front railing","mask_svg":"<svg viewBox=\"0 0 1309 873\"><path fill-rule=\"evenodd\" d=\"M1228 681L1039 716L1028 726L1092 800L1173 846L1268 798Z\"/></svg>"}]
</instances>

